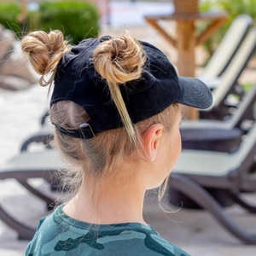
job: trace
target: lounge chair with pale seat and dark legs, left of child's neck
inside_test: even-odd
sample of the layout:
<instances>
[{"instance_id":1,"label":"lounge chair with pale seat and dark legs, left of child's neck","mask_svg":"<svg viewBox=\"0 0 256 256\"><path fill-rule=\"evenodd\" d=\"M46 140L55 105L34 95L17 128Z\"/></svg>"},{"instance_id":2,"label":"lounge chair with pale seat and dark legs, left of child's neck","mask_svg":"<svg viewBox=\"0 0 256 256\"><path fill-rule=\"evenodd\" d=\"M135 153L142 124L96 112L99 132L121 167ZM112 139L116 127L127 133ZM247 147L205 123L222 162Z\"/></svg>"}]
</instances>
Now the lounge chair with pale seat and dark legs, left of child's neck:
<instances>
[{"instance_id":1,"label":"lounge chair with pale seat and dark legs, left of child's neck","mask_svg":"<svg viewBox=\"0 0 256 256\"><path fill-rule=\"evenodd\" d=\"M44 200L48 206L53 202L53 198L39 192L33 188L28 179L42 177L49 183L55 180L56 170L64 169L64 164L54 150L48 149L40 152L25 151L14 159L10 160L6 166L0 169L0 180L14 178L32 194ZM20 239L31 240L35 233L31 227L21 224L15 217L0 205L0 219L16 230Z\"/></svg>"}]
</instances>

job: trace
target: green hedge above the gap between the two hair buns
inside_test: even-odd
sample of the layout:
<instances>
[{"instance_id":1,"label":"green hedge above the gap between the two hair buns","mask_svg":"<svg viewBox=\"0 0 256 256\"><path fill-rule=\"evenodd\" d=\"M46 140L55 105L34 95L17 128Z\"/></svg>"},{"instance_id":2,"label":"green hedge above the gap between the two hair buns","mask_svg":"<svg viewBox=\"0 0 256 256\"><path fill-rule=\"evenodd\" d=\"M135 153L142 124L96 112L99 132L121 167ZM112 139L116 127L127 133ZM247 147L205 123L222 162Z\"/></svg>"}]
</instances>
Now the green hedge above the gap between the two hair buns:
<instances>
[{"instance_id":1,"label":"green hedge above the gap between the two hair buns","mask_svg":"<svg viewBox=\"0 0 256 256\"><path fill-rule=\"evenodd\" d=\"M36 28L49 31L58 29L73 38L73 44L84 38L97 37L99 15L91 3L85 2L42 2ZM35 28L35 27L33 27Z\"/></svg>"}]
</instances>

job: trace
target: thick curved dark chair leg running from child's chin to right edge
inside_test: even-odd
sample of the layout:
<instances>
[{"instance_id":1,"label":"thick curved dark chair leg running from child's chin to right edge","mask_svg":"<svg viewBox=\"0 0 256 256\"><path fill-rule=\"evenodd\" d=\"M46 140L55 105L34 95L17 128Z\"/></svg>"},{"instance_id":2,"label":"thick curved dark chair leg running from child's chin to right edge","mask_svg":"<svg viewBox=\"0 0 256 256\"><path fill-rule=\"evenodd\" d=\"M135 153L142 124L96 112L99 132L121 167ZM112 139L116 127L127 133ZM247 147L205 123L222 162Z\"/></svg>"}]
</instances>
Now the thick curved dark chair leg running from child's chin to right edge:
<instances>
[{"instance_id":1,"label":"thick curved dark chair leg running from child's chin to right edge","mask_svg":"<svg viewBox=\"0 0 256 256\"><path fill-rule=\"evenodd\" d=\"M173 178L172 178L173 177ZM189 196L198 205L207 209L231 234L248 244L256 244L256 234L249 234L242 230L225 212L214 198L207 193L198 183L182 174L172 174L169 179L171 187Z\"/></svg>"}]
</instances>

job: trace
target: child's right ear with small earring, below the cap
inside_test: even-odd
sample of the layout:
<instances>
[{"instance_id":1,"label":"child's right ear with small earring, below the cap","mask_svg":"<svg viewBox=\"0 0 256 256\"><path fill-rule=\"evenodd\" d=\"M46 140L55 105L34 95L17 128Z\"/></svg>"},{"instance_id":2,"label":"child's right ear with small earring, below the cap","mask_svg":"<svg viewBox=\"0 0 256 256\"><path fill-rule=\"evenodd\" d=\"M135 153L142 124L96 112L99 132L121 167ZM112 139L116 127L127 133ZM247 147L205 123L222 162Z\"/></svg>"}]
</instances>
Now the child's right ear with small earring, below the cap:
<instances>
[{"instance_id":1,"label":"child's right ear with small earring, below the cap","mask_svg":"<svg viewBox=\"0 0 256 256\"><path fill-rule=\"evenodd\" d=\"M163 133L163 125L155 124L148 128L147 131L143 133L144 149L145 153L151 161L154 161L157 154L157 149L160 143L160 137Z\"/></svg>"}]
</instances>

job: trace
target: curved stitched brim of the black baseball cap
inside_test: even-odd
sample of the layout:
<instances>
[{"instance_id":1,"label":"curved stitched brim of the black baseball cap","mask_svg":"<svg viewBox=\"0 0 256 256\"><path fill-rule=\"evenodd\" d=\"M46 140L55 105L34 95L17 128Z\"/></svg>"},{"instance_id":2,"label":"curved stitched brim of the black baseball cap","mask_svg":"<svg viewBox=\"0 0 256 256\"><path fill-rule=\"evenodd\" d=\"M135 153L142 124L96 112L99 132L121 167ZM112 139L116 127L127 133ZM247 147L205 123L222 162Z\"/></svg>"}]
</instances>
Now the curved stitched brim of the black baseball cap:
<instances>
[{"instance_id":1,"label":"curved stitched brim of the black baseball cap","mask_svg":"<svg viewBox=\"0 0 256 256\"><path fill-rule=\"evenodd\" d=\"M212 92L207 84L201 80L188 77L178 77L181 95L177 103L194 108L210 108L212 106Z\"/></svg>"}]
</instances>

